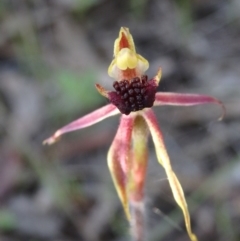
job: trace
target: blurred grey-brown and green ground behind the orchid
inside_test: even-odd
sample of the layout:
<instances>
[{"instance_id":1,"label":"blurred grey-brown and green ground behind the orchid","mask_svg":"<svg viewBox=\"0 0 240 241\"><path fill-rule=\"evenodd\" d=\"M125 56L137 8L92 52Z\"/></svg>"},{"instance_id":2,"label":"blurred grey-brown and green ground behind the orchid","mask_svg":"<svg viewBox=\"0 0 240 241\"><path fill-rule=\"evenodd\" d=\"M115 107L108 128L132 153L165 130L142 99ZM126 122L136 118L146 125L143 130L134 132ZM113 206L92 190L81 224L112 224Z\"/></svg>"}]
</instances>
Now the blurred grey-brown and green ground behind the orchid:
<instances>
[{"instance_id":1,"label":"blurred grey-brown and green ground behind the orchid","mask_svg":"<svg viewBox=\"0 0 240 241\"><path fill-rule=\"evenodd\" d=\"M240 240L239 0L0 0L0 240L130 240L106 154L118 117L42 141L105 105L121 26L160 91L203 93L220 108L156 108L201 241ZM148 240L188 240L149 144Z\"/></svg>"}]
</instances>

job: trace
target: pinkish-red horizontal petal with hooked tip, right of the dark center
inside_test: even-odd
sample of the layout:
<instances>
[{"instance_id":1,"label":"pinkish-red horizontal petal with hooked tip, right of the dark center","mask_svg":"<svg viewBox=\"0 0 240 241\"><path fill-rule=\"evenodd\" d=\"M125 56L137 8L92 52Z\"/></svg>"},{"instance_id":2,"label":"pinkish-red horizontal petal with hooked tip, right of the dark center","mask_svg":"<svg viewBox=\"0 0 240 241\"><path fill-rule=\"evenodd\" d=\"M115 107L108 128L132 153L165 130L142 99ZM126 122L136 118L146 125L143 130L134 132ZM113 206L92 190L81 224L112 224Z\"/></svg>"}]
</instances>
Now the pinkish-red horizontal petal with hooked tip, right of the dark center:
<instances>
[{"instance_id":1,"label":"pinkish-red horizontal petal with hooked tip, right of the dark center","mask_svg":"<svg viewBox=\"0 0 240 241\"><path fill-rule=\"evenodd\" d=\"M173 92L157 92L155 95L154 106L159 105L175 105L175 106L193 106L215 103L221 106L222 115L219 118L221 120L225 115L225 107L223 103L208 95L199 94L183 94L183 93L173 93Z\"/></svg>"}]
</instances>

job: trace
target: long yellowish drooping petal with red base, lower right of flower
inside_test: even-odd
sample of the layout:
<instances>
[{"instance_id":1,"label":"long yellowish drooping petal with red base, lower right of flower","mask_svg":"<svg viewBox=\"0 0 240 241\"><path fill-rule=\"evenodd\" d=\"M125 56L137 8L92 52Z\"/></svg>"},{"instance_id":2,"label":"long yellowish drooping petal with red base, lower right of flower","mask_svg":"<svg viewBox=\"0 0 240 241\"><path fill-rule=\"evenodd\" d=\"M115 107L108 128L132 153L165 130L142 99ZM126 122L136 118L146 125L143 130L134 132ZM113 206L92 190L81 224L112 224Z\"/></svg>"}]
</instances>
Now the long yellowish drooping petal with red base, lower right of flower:
<instances>
[{"instance_id":1,"label":"long yellowish drooping petal with red base, lower right of flower","mask_svg":"<svg viewBox=\"0 0 240 241\"><path fill-rule=\"evenodd\" d=\"M157 153L157 159L159 163L164 167L170 183L170 187L173 192L174 199L182 209L188 235L192 241L197 241L197 237L195 236L195 234L192 232L192 229L191 229L190 215L188 212L185 196L184 196L181 184L176 174L172 170L171 162L163 142L163 136L157 124L157 119L151 109L144 111L143 116L145 117L145 121L147 122L147 125L149 127L150 133L153 138L155 150Z\"/></svg>"}]
</instances>

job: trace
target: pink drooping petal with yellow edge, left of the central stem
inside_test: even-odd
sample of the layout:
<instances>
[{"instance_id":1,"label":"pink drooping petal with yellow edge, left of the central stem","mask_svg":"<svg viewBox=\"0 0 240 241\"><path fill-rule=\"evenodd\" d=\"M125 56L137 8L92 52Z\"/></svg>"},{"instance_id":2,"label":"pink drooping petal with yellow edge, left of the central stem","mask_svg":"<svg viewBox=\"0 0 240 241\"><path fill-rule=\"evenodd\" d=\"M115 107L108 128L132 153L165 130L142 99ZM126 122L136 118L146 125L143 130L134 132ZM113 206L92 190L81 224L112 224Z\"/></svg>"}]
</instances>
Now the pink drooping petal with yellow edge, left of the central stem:
<instances>
[{"instance_id":1,"label":"pink drooping petal with yellow edge, left of the central stem","mask_svg":"<svg viewBox=\"0 0 240 241\"><path fill-rule=\"evenodd\" d=\"M127 181L130 167L130 148L134 116L122 115L117 134L108 152L107 160L112 179L125 214L130 220Z\"/></svg>"}]
</instances>

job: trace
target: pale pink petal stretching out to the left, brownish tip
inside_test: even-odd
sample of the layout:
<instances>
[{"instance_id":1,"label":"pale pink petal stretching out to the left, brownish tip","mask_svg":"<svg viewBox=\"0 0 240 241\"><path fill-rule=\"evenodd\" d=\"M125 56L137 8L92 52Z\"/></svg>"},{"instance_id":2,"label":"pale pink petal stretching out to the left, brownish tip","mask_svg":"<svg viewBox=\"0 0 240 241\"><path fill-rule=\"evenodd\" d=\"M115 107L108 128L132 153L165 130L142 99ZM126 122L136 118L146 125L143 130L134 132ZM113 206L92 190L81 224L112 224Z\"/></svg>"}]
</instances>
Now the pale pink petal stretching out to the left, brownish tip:
<instances>
[{"instance_id":1,"label":"pale pink petal stretching out to the left, brownish tip","mask_svg":"<svg viewBox=\"0 0 240 241\"><path fill-rule=\"evenodd\" d=\"M46 139L43 144L51 145L64 133L91 126L101 120L117 114L119 114L119 110L114 105L105 105L57 130L51 137Z\"/></svg>"}]
</instances>

